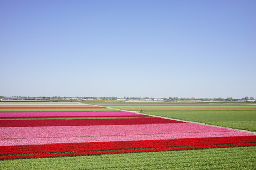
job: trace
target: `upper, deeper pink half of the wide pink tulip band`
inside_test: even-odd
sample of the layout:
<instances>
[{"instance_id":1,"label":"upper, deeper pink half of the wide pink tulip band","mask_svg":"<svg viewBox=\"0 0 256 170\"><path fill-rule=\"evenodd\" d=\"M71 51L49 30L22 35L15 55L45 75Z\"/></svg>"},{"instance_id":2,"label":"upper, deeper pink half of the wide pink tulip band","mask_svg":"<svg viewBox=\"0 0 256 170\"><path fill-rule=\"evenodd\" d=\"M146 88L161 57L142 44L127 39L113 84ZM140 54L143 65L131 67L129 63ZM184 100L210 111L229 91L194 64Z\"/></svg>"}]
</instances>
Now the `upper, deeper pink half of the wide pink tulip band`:
<instances>
[{"instance_id":1,"label":"upper, deeper pink half of the wide pink tulip band","mask_svg":"<svg viewBox=\"0 0 256 170\"><path fill-rule=\"evenodd\" d=\"M43 126L43 127L1 127L0 140L26 138L58 138L58 137L101 137L101 136L147 136L164 135L169 137L191 136L218 137L251 135L250 133L228 130L196 123L165 123L142 125L96 125L96 126ZM4 143L4 142L3 142ZM3 144L2 143L2 144Z\"/></svg>"}]
</instances>

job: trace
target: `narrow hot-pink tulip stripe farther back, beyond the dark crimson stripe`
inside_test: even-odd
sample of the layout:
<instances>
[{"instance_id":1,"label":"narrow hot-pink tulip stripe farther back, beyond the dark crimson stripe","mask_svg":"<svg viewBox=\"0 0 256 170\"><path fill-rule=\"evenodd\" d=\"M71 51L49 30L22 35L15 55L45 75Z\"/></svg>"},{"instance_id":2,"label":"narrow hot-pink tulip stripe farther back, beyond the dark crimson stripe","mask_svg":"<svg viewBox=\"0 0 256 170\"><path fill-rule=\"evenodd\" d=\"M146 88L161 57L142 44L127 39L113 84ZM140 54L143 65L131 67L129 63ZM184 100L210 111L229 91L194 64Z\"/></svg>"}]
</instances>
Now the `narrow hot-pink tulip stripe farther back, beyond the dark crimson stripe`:
<instances>
[{"instance_id":1,"label":"narrow hot-pink tulip stripe farther back, beyond the dark crimson stripe","mask_svg":"<svg viewBox=\"0 0 256 170\"><path fill-rule=\"evenodd\" d=\"M4 117L81 117L81 116L146 116L132 112L6 112L0 113Z\"/></svg>"}]
</instances>

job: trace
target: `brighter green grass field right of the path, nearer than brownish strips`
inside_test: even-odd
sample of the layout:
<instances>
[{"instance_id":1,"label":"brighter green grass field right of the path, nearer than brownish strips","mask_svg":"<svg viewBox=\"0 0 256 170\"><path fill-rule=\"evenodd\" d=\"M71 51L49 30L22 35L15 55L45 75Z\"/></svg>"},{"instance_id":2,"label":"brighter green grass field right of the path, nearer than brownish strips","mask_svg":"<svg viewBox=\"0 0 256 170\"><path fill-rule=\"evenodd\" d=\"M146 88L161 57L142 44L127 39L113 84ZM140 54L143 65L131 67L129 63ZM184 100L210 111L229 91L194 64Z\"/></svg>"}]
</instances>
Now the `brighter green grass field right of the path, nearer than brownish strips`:
<instances>
[{"instance_id":1,"label":"brighter green grass field right of the path, nearer than brownish strips","mask_svg":"<svg viewBox=\"0 0 256 170\"><path fill-rule=\"evenodd\" d=\"M145 114L256 131L256 110L145 110Z\"/></svg>"}]
</instances>

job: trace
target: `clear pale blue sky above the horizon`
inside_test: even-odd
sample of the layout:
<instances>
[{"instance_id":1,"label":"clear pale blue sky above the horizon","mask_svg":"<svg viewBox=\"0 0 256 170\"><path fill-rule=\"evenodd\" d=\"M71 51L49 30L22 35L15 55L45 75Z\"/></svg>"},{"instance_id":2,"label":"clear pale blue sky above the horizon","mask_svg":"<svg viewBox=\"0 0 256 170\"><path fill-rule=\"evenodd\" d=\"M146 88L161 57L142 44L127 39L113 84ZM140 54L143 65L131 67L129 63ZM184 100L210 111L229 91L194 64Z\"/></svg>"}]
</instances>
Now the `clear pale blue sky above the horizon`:
<instances>
[{"instance_id":1,"label":"clear pale blue sky above the horizon","mask_svg":"<svg viewBox=\"0 0 256 170\"><path fill-rule=\"evenodd\" d=\"M1 0L0 96L256 98L254 0Z\"/></svg>"}]
</instances>

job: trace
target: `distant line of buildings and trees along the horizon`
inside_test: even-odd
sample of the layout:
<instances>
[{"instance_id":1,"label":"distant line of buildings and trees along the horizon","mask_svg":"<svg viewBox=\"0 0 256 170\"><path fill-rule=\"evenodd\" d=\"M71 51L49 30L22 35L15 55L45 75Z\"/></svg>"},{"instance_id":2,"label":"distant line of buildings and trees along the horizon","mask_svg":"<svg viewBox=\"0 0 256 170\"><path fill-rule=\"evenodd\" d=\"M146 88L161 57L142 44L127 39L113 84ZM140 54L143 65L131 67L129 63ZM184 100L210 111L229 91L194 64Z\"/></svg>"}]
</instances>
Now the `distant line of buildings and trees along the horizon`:
<instances>
[{"instance_id":1,"label":"distant line of buildings and trees along the horizon","mask_svg":"<svg viewBox=\"0 0 256 170\"><path fill-rule=\"evenodd\" d=\"M232 97L228 98L179 98L179 97L164 97L164 98L154 98L154 97L25 97L25 96L0 96L0 101L10 101L10 100L39 100L39 101L101 101L101 100L117 100L117 101L172 101L172 102L200 102L200 101L237 101L237 102L256 102L254 97L244 97L242 99L234 99Z\"/></svg>"}]
</instances>

